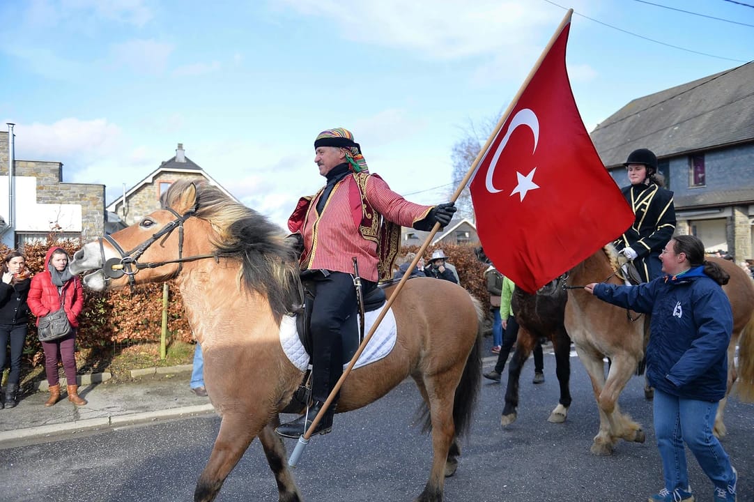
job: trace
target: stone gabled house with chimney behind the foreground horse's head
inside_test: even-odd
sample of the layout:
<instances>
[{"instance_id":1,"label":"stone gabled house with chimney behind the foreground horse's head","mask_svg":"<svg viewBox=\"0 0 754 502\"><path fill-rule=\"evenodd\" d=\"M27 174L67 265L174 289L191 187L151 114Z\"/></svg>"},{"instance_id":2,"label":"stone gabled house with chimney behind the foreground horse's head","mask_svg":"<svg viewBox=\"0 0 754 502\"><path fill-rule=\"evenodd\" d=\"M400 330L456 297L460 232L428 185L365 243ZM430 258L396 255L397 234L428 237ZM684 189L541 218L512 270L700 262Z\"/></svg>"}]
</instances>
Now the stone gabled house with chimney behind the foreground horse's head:
<instances>
[{"instance_id":1,"label":"stone gabled house with chimney behind the foreground horse's head","mask_svg":"<svg viewBox=\"0 0 754 502\"><path fill-rule=\"evenodd\" d=\"M143 180L136 183L107 206L107 211L117 216L125 226L133 225L146 214L160 208L160 197L170 185L181 179L204 178L209 183L219 187L231 199L235 199L228 190L213 180L209 174L185 155L183 144L178 143L176 155L161 163L160 167L152 171ZM115 218L111 218L115 220Z\"/></svg>"}]
</instances>

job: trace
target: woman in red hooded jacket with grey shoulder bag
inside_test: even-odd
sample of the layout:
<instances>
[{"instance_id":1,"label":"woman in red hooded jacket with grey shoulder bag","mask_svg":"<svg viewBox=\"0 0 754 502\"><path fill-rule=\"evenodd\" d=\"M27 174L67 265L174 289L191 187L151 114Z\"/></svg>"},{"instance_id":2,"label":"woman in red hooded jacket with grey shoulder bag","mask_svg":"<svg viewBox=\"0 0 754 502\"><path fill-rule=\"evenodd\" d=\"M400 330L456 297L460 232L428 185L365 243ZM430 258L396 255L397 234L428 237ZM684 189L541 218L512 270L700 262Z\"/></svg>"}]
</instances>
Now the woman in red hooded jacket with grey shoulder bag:
<instances>
[{"instance_id":1,"label":"woman in red hooded jacket with grey shoulder bag","mask_svg":"<svg viewBox=\"0 0 754 502\"><path fill-rule=\"evenodd\" d=\"M87 404L78 396L74 356L78 315L81 314L84 306L84 289L81 288L81 279L71 274L68 261L68 254L63 251L63 248L55 246L48 249L44 257L44 270L32 277L29 297L26 299L29 310L37 317L37 325L41 316L60 310L60 304L63 303L63 308L73 328L71 333L63 338L42 342L44 370L47 372L50 384L50 399L44 403L45 406L52 406L60 399L60 383L57 376L58 353L63 359L63 367L66 368L68 400L77 406Z\"/></svg>"}]
</instances>

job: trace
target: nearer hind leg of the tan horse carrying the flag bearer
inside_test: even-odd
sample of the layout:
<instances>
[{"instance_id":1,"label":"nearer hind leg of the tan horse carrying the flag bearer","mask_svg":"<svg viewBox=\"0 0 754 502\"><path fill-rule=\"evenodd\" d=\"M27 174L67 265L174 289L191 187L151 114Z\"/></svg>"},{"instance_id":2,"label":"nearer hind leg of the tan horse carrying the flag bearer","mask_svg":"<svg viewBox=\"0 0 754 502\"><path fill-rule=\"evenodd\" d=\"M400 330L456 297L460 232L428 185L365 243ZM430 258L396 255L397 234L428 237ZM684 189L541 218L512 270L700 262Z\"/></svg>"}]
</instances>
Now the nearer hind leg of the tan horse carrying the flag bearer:
<instances>
[{"instance_id":1,"label":"nearer hind leg of the tan horse carrying the flag bearer","mask_svg":"<svg viewBox=\"0 0 754 502\"><path fill-rule=\"evenodd\" d=\"M461 367L462 371L462 367ZM432 376L425 375L424 386L430 399L432 421L432 469L424 491L414 502L442 502L445 488L446 465L450 445L455 439L453 423L453 401L455 387L458 385L461 371L444 371Z\"/></svg>"}]
</instances>

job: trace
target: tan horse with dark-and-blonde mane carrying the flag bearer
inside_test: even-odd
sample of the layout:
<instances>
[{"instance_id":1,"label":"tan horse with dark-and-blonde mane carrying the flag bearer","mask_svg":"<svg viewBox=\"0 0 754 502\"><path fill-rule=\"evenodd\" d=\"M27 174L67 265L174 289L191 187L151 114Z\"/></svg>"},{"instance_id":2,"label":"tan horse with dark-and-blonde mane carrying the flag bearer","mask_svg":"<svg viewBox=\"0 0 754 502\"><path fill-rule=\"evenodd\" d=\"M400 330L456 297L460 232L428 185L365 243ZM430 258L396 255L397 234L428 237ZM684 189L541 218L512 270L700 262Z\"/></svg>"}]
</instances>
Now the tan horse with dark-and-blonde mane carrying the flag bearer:
<instances>
[{"instance_id":1,"label":"tan horse with dark-and-blonde mane carrying the flag bearer","mask_svg":"<svg viewBox=\"0 0 754 502\"><path fill-rule=\"evenodd\" d=\"M208 183L173 183L163 206L85 245L71 269L95 270L84 284L98 291L176 279L204 351L207 393L222 417L194 500L215 499L256 436L280 502L302 500L284 443L273 432L302 380L280 346L281 319L300 302L290 239ZM393 291L386 290L388 297ZM428 407L425 429L431 430L434 448L429 480L415 500L440 501L445 476L455 472L457 437L470 425L479 390L483 312L463 288L429 278L406 282L392 310L394 349L348 376L337 411L368 405L411 376Z\"/></svg>"}]
</instances>

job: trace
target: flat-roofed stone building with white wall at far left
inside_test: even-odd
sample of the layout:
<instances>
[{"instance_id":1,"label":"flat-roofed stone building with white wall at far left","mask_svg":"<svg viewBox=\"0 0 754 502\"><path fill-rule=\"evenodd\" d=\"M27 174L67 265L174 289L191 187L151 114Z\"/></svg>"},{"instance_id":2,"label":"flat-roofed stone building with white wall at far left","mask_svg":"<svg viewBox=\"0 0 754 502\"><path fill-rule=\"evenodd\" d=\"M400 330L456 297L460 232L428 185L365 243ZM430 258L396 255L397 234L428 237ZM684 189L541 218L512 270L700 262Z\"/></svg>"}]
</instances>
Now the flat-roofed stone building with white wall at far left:
<instances>
[{"instance_id":1,"label":"flat-roofed stone building with white wall at far left","mask_svg":"<svg viewBox=\"0 0 754 502\"><path fill-rule=\"evenodd\" d=\"M105 186L63 183L63 163L15 159L12 125L0 131L0 232L9 248L46 240L87 242L105 225ZM12 171L12 176L8 176Z\"/></svg>"}]
</instances>

